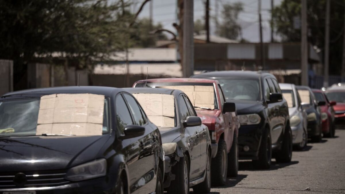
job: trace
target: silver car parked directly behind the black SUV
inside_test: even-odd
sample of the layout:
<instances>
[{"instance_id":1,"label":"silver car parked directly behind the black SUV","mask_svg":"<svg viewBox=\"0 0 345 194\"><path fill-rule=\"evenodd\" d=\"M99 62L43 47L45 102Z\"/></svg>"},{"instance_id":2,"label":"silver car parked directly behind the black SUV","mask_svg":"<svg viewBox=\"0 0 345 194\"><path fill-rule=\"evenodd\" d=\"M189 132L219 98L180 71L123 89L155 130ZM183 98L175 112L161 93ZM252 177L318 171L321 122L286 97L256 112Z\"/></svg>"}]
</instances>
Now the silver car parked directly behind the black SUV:
<instances>
[{"instance_id":1,"label":"silver car parked directly behind the black SUV","mask_svg":"<svg viewBox=\"0 0 345 194\"><path fill-rule=\"evenodd\" d=\"M301 106L301 100L294 84L279 84L283 97L287 101L292 130L292 143L297 149L307 145L307 114Z\"/></svg>"}]
</instances>

